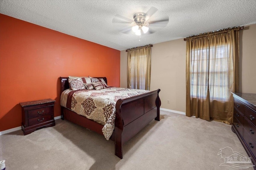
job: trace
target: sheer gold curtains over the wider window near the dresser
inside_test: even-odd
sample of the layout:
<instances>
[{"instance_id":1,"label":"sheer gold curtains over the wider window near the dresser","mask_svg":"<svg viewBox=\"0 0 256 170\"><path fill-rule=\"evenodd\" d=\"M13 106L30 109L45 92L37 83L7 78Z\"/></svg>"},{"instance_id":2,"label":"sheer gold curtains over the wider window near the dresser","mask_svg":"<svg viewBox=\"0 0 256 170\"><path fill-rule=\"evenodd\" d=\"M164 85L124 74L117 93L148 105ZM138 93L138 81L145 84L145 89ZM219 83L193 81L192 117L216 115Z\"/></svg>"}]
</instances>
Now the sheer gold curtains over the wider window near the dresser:
<instances>
[{"instance_id":1,"label":"sheer gold curtains over the wider window near the dresser","mask_svg":"<svg viewBox=\"0 0 256 170\"><path fill-rule=\"evenodd\" d=\"M186 115L232 123L238 92L239 30L228 28L186 38Z\"/></svg>"}]
</instances>

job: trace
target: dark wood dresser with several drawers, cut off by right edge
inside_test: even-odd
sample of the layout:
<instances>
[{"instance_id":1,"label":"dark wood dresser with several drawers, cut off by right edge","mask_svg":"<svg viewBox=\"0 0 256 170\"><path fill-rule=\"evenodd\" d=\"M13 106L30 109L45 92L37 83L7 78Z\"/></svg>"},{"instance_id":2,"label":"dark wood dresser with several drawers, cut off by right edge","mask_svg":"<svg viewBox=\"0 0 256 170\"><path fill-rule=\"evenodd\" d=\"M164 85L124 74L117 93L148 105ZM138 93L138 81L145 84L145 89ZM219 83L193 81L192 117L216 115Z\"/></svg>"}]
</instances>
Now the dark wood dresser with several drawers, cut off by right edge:
<instances>
[{"instance_id":1,"label":"dark wood dresser with several drawers, cut off by right edge","mask_svg":"<svg viewBox=\"0 0 256 170\"><path fill-rule=\"evenodd\" d=\"M233 93L233 97L232 131L236 133L252 163L256 165L256 94Z\"/></svg>"}]
</instances>

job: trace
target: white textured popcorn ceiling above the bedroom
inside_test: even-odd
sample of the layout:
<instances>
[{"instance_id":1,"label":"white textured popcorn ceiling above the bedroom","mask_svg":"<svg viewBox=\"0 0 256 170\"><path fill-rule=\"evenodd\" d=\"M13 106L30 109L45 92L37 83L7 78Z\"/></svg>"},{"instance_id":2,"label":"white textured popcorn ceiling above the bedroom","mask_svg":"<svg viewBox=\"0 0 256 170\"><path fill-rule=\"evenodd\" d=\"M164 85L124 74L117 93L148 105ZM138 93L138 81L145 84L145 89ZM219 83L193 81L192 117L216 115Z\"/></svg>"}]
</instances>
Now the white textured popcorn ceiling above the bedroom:
<instances>
[{"instance_id":1,"label":"white textured popcorn ceiling above the bedroom","mask_svg":"<svg viewBox=\"0 0 256 170\"><path fill-rule=\"evenodd\" d=\"M151 7L158 11L150 19L169 22L140 41L120 32L128 23L112 23L116 15L133 20ZM121 51L256 23L256 0L0 0L0 13Z\"/></svg>"}]
</instances>

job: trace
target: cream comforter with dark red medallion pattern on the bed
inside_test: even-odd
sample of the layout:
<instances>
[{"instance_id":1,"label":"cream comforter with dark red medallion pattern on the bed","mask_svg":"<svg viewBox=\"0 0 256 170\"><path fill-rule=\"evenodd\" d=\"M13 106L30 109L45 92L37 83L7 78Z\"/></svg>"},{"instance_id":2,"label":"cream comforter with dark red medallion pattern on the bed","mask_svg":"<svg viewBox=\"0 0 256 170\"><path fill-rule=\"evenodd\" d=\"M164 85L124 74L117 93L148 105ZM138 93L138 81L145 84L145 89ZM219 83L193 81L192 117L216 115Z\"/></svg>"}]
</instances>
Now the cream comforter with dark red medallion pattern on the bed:
<instances>
[{"instance_id":1,"label":"cream comforter with dark red medallion pattern on the bed","mask_svg":"<svg viewBox=\"0 0 256 170\"><path fill-rule=\"evenodd\" d=\"M101 90L67 89L61 94L60 105L104 125L102 133L109 140L115 127L116 102L147 92L150 91L116 87Z\"/></svg>"}]
</instances>

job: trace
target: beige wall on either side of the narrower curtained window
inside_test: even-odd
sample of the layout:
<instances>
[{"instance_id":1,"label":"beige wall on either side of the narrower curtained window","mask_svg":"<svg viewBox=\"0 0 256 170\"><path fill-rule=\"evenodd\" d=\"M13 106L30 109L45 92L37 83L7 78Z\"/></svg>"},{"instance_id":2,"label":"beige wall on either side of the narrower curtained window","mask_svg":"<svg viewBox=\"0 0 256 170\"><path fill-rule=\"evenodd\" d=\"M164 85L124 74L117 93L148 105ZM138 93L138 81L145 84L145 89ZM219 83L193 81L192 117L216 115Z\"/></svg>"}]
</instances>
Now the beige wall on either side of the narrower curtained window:
<instances>
[{"instance_id":1,"label":"beige wall on either side of the narrower curtained window","mask_svg":"<svg viewBox=\"0 0 256 170\"><path fill-rule=\"evenodd\" d=\"M162 108L185 112L186 42L178 39L154 44L151 52L150 90L161 89ZM124 50L120 55L120 87L127 87L127 53Z\"/></svg>"}]
</instances>

